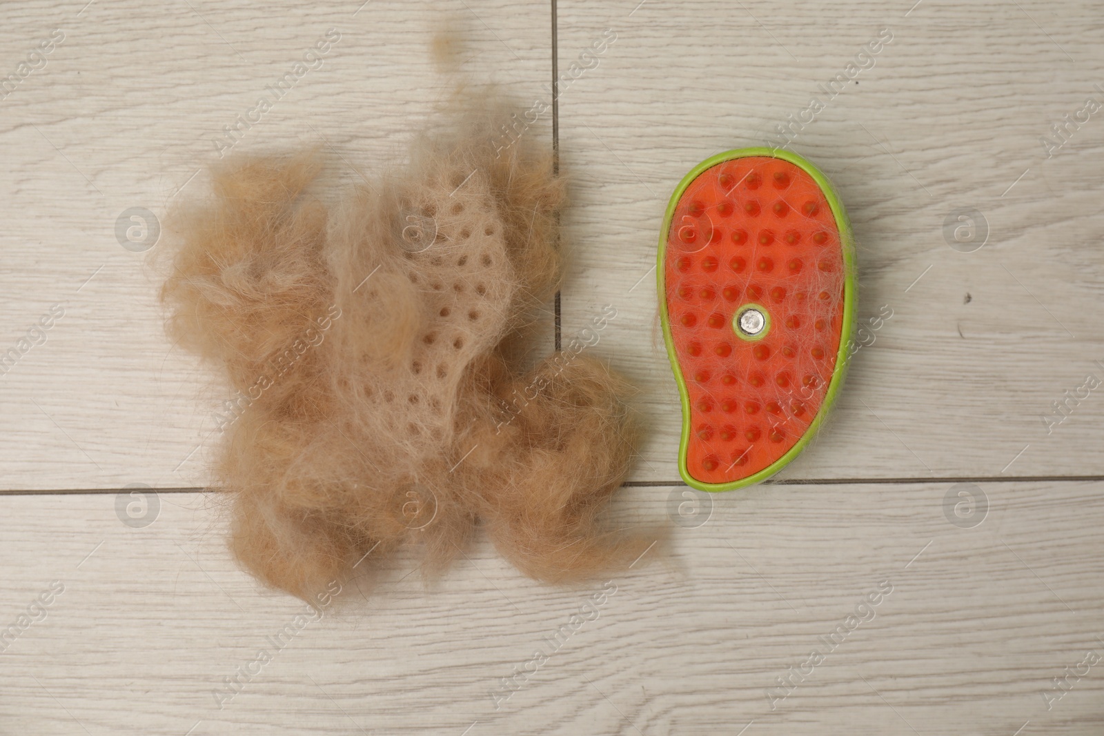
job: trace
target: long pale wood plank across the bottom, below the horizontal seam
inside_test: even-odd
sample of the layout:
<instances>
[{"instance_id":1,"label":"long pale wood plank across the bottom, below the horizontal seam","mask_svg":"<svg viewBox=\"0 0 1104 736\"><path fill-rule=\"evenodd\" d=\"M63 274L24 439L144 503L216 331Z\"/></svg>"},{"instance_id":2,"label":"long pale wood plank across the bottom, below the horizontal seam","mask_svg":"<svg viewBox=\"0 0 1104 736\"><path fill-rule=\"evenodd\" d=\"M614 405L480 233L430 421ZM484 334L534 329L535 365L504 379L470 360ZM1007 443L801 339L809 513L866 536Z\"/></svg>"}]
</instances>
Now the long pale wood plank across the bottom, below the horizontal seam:
<instances>
[{"instance_id":1,"label":"long pale wood plank across the bottom, below the horizontal seam","mask_svg":"<svg viewBox=\"0 0 1104 736\"><path fill-rule=\"evenodd\" d=\"M601 584L537 585L484 540L428 591L406 577L411 559L388 564L374 593L355 589L367 577L347 586L275 651L266 637L305 606L233 567L213 498L163 493L156 521L132 527L109 493L0 497L0 626L64 585L45 618L4 642L0 729L1100 733L1104 662L1050 711L1042 693L1086 651L1104 657L1104 483L983 483L988 511L972 527L948 522L948 490L775 484L711 497L709 514L680 516L689 525L666 551L612 576L597 618L554 652L545 638ZM627 490L618 516L665 520L683 492ZM772 711L776 678L827 650L819 637L883 580L892 591L861 611L868 620ZM220 710L212 692L265 648L273 660ZM550 659L496 711L501 679L540 648Z\"/></svg>"}]
</instances>

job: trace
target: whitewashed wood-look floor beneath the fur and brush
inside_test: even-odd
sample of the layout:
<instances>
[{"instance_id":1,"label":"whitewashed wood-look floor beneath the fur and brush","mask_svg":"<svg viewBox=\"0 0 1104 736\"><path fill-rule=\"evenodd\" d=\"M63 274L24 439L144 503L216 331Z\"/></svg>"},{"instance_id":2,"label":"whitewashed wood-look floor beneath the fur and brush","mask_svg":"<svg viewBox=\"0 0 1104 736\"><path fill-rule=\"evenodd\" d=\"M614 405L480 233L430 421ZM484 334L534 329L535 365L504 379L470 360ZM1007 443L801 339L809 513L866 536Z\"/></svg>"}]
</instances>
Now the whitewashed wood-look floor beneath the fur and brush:
<instances>
[{"instance_id":1,"label":"whitewashed wood-look floor beneath the fur and brush","mask_svg":"<svg viewBox=\"0 0 1104 736\"><path fill-rule=\"evenodd\" d=\"M0 734L1104 733L1098 3L84 1L0 8ZM164 338L145 250L231 145L317 143L350 181L399 156L446 94L442 25L477 78L564 79L534 130L572 188L560 334L616 308L590 350L648 429L616 513L672 533L604 585L479 541L308 615L224 548L227 392ZM676 467L664 209L813 97L789 147L849 211L860 321L892 318L797 461L705 497Z\"/></svg>"}]
</instances>

